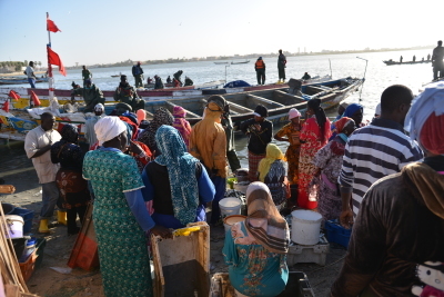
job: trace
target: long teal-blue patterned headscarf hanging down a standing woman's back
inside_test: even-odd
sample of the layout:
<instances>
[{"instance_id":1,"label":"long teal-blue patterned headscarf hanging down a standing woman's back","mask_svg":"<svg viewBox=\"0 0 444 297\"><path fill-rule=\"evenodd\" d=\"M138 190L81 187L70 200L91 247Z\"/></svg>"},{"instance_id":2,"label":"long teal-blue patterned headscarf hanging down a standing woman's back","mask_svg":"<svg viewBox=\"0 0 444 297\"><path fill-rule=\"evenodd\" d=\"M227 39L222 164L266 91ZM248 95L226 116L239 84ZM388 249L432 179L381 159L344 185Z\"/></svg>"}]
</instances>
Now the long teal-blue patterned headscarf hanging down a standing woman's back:
<instances>
[{"instance_id":1,"label":"long teal-blue patterned headscarf hanging down a standing woman's back","mask_svg":"<svg viewBox=\"0 0 444 297\"><path fill-rule=\"evenodd\" d=\"M182 225L193 222L199 206L198 180L195 177L196 162L193 156L186 152L179 131L171 126L161 126L155 133L155 141L161 156L155 162L167 166L170 178L171 199L174 217Z\"/></svg>"}]
</instances>

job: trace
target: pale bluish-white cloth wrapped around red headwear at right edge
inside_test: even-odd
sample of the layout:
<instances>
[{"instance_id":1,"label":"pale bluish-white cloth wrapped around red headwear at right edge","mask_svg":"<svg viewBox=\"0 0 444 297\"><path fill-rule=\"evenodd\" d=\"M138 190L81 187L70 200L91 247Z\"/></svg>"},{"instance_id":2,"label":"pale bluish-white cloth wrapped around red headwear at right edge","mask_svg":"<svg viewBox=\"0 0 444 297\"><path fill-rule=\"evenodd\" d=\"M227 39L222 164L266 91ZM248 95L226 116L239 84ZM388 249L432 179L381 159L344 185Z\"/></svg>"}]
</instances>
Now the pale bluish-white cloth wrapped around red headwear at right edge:
<instances>
[{"instance_id":1,"label":"pale bluish-white cloth wrapped around red headwear at right edge","mask_svg":"<svg viewBox=\"0 0 444 297\"><path fill-rule=\"evenodd\" d=\"M435 116L444 113L444 82L428 85L425 90L413 99L412 107L405 118L404 129L413 140L420 138L421 129L432 112Z\"/></svg>"}]
</instances>

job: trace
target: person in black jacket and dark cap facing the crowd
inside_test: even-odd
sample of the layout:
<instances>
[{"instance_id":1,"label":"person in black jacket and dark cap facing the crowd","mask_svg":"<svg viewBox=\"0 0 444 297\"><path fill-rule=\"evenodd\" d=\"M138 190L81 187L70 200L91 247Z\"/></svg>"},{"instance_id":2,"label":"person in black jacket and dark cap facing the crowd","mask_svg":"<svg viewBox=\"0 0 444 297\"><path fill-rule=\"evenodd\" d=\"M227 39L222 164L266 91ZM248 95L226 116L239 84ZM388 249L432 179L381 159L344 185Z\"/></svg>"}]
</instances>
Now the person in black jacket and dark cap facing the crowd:
<instances>
[{"instance_id":1,"label":"person in black jacket and dark cap facing the crowd","mask_svg":"<svg viewBox=\"0 0 444 297\"><path fill-rule=\"evenodd\" d=\"M273 123L265 118L269 110L263 105L254 109L254 118L241 123L241 130L249 136L249 179L258 181L259 162L265 158L266 145L273 137Z\"/></svg>"}]
</instances>

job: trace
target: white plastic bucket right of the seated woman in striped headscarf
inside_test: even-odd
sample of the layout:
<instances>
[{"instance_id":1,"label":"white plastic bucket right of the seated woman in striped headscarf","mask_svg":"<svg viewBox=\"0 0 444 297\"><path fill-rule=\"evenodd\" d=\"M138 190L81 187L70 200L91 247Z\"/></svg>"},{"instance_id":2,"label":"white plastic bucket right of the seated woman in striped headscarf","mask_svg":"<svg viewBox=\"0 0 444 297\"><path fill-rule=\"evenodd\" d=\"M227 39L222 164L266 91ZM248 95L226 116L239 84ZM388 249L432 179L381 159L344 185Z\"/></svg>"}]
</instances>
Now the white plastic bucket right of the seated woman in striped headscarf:
<instances>
[{"instance_id":1,"label":"white plastic bucket right of the seated woman in striped headscarf","mask_svg":"<svg viewBox=\"0 0 444 297\"><path fill-rule=\"evenodd\" d=\"M293 242L304 246L315 245L320 240L322 216L312 210L292 211L292 234Z\"/></svg>"}]
</instances>

